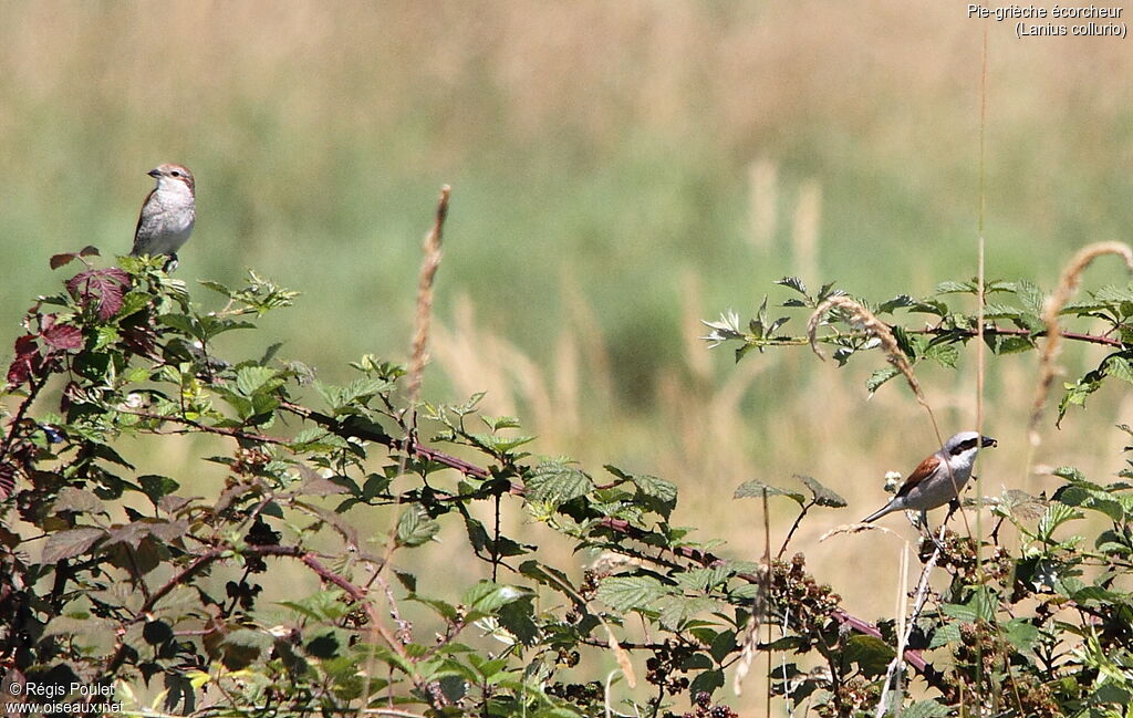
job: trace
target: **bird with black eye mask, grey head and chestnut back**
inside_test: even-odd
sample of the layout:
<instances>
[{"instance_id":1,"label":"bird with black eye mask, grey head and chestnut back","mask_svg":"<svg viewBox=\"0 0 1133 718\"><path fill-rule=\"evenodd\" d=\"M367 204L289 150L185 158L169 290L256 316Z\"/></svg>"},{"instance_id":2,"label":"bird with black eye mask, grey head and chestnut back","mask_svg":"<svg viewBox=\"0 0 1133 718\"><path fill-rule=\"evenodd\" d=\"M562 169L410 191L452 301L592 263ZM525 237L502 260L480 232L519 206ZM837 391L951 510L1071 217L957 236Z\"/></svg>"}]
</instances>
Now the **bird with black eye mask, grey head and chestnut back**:
<instances>
[{"instance_id":1,"label":"bird with black eye mask, grey head and chestnut back","mask_svg":"<svg viewBox=\"0 0 1133 718\"><path fill-rule=\"evenodd\" d=\"M880 511L862 519L862 523L877 521L895 511L919 511L921 527L927 527L928 510L957 499L972 476L976 454L981 447L996 445L996 439L976 431L956 434L939 451L920 462L897 489L897 495ZM948 515L952 515L951 512Z\"/></svg>"}]
</instances>

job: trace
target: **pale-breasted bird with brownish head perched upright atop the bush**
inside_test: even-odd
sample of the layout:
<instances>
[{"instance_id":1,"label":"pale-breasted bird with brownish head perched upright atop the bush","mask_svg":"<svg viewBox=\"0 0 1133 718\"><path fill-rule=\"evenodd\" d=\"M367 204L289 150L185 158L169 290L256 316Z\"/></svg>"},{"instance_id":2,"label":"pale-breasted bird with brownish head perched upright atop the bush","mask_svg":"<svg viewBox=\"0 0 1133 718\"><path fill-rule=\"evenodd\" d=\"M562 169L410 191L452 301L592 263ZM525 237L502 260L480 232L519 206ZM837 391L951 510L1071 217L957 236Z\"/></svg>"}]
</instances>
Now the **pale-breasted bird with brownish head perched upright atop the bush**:
<instances>
[{"instance_id":1,"label":"pale-breasted bird with brownish head perched upright atop the bush","mask_svg":"<svg viewBox=\"0 0 1133 718\"><path fill-rule=\"evenodd\" d=\"M147 174L157 185L142 205L138 225L134 230L131 257L165 255L165 271L177 267L177 250L193 233L196 219L196 181L193 172L180 164L159 164Z\"/></svg>"}]
</instances>

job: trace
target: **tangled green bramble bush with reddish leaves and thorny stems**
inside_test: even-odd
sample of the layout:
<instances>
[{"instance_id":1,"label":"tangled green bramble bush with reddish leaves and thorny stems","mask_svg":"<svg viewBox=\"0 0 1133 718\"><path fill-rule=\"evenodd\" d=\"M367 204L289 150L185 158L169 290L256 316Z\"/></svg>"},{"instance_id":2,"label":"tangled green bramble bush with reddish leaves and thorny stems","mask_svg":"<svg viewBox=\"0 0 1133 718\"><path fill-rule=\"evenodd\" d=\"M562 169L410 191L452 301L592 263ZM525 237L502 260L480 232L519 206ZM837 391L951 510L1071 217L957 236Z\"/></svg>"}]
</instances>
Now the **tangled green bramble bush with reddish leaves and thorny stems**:
<instances>
[{"instance_id":1,"label":"tangled green bramble bush with reddish leaves and thorny stems","mask_svg":"<svg viewBox=\"0 0 1133 718\"><path fill-rule=\"evenodd\" d=\"M675 484L533 456L519 422L480 413L478 396L412 402L406 368L372 356L334 386L275 344L225 352L228 332L255 330L296 292L249 273L239 288L203 282L211 294L195 299L161 259L101 266L96 256L52 257L57 271L79 271L27 311L7 373L6 698L19 685L102 700L68 695L83 684L113 686L133 709L156 695L148 715L719 718L736 715L725 686L766 655L775 701L792 715L1122 716L1133 700L1130 484L1066 467L1049 498L981 499L988 536L922 541L921 559L947 584L927 601L918 592L902 632L902 617L849 615L791 544L810 512L845 506L813 478L741 486L738 497L765 508L796 506L798 521L763 561L715 555L716 541L670 522ZM881 343L852 311L825 314L833 287L781 284L793 292L789 309L824 309L808 336L783 334L789 319L768 320L765 301L746 325L734 315L712 323L709 339L738 343L740 357L826 343L841 362ZM954 367L978 331L947 302L978 290L947 283L869 308L893 317L885 325L909 365ZM1045 294L1026 282L987 291L995 357L1040 347ZM1059 418L1107 378L1133 379L1133 290L1104 288L1062 313L1111 330L1063 335L1110 353L1066 384ZM911 328L915 314L936 326ZM898 371L880 369L870 391ZM156 476L122 456L145 435L216 441L190 443L201 455ZM222 454L204 453L218 442ZM202 462L227 476L215 495L196 495ZM517 514L599 559L585 571L548 563L502 532L513 522L501 516ZM395 528L374 537L360 524ZM483 566L482 578L418 592L431 570L412 555L446 524L467 537L451 559ZM321 590L263 600L261 583L282 562ZM634 702L625 696L642 694L636 685L649 690Z\"/></svg>"}]
</instances>

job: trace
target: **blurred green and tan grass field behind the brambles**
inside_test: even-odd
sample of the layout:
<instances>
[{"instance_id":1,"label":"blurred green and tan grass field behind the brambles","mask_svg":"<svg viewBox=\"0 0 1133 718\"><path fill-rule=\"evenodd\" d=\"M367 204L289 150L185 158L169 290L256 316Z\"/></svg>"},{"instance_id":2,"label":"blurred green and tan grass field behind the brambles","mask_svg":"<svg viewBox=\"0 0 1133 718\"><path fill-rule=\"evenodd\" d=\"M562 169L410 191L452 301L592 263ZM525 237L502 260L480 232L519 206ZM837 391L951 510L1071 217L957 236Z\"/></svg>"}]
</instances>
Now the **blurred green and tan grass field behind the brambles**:
<instances>
[{"instance_id":1,"label":"blurred green and tan grass field behind the brambles","mask_svg":"<svg viewBox=\"0 0 1133 718\"><path fill-rule=\"evenodd\" d=\"M420 238L451 183L426 395L487 390L538 452L676 480L679 522L712 516L701 537L743 557L761 520L735 485L816 476L852 515L794 545L851 610L892 610L853 587L893 585L895 559L845 554L894 547L816 539L931 448L920 409L896 385L866 400L879 359L735 366L696 337L785 274L881 300L976 273L983 26L961 6L5 0L0 17L6 341L57 287L46 256L127 251L145 171L174 161L198 183L178 276L254 267L304 292L249 347L284 340L330 382L363 352L404 360ZM1049 289L1076 247L1133 225L1133 55L991 24L989 58L988 275ZM921 376L947 431L974 420L973 362ZM1021 476L1033 367L989 369L989 493L1042 488ZM1130 408L1107 388L1040 459L1105 480Z\"/></svg>"}]
</instances>

